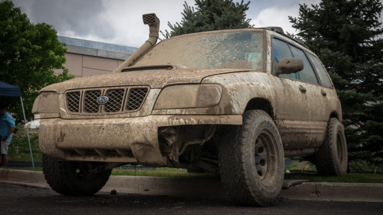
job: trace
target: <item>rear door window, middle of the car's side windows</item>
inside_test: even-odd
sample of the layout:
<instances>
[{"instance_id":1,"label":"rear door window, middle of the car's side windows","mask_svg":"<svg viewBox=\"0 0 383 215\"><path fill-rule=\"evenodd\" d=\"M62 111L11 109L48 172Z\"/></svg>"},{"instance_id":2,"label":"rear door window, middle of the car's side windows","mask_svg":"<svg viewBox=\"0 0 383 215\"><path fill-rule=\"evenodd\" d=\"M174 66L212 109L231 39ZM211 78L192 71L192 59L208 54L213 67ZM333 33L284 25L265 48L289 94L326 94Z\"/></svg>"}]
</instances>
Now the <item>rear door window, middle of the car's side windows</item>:
<instances>
[{"instance_id":1,"label":"rear door window, middle of the car's side windows","mask_svg":"<svg viewBox=\"0 0 383 215\"><path fill-rule=\"evenodd\" d=\"M317 76L314 69L310 64L309 59L306 57L303 50L289 44L294 58L300 58L303 61L303 70L299 72L301 80L308 83L318 84Z\"/></svg>"}]
</instances>

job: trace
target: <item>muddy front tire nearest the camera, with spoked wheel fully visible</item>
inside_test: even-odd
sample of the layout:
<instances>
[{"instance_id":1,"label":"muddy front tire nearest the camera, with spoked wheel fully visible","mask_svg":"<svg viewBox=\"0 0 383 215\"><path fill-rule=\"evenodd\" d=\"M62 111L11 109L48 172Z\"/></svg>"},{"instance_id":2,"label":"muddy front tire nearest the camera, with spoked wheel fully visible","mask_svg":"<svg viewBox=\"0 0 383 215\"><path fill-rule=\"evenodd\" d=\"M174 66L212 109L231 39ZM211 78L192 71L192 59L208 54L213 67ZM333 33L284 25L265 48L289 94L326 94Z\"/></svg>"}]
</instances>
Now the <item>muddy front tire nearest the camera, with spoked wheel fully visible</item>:
<instances>
[{"instance_id":1,"label":"muddy front tire nearest the camera, with spoked wheel fully visible","mask_svg":"<svg viewBox=\"0 0 383 215\"><path fill-rule=\"evenodd\" d=\"M271 117L263 110L245 111L242 125L231 126L218 145L218 164L223 186L235 203L273 205L283 184L284 154Z\"/></svg>"}]
</instances>

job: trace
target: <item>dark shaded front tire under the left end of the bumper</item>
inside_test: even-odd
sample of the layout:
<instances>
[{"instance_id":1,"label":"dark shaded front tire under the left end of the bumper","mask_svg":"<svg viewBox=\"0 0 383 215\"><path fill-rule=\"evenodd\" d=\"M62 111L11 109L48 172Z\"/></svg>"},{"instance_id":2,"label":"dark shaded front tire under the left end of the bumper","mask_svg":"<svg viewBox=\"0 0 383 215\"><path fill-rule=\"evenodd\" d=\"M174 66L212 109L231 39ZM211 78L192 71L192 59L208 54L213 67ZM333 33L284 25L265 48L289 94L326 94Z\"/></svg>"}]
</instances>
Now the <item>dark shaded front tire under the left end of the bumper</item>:
<instances>
[{"instance_id":1,"label":"dark shaded front tire under the left end of the bumper","mask_svg":"<svg viewBox=\"0 0 383 215\"><path fill-rule=\"evenodd\" d=\"M101 190L112 170L100 173L79 171L77 161L59 161L42 155L42 172L49 186L67 196L90 196Z\"/></svg>"}]
</instances>

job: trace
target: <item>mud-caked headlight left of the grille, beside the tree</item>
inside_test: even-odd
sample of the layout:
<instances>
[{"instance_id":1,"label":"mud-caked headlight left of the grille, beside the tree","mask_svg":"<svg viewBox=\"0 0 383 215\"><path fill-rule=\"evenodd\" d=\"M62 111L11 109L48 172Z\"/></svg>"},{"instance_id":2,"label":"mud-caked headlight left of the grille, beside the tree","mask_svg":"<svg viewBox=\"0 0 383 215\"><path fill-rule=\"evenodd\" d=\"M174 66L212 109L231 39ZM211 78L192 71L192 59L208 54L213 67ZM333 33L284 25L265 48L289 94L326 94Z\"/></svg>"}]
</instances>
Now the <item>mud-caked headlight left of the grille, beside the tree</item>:
<instances>
[{"instance_id":1,"label":"mud-caked headlight left of the grille, beside the tree","mask_svg":"<svg viewBox=\"0 0 383 215\"><path fill-rule=\"evenodd\" d=\"M42 92L33 103L32 113L50 113L50 117L59 117L58 94L56 92ZM34 115L35 119L43 118L41 114ZM38 117L36 117L37 115Z\"/></svg>"}]
</instances>

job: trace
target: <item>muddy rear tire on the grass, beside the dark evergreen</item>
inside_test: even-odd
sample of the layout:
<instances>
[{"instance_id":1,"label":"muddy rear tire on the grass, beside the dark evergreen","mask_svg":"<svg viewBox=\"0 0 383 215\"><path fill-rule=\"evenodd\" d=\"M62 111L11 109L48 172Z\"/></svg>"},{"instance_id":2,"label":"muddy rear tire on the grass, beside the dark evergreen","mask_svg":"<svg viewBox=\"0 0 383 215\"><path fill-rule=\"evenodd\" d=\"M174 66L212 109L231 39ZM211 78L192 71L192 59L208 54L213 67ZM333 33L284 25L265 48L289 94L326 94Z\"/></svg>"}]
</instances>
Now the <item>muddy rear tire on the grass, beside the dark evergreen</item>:
<instances>
[{"instance_id":1,"label":"muddy rear tire on the grass, beside the dark evergreen","mask_svg":"<svg viewBox=\"0 0 383 215\"><path fill-rule=\"evenodd\" d=\"M343 124L330 118L326 138L315 154L315 165L319 175L341 176L347 173L347 144Z\"/></svg>"}]
</instances>

